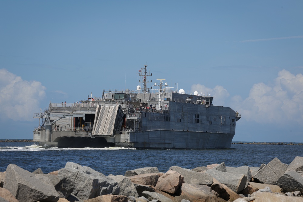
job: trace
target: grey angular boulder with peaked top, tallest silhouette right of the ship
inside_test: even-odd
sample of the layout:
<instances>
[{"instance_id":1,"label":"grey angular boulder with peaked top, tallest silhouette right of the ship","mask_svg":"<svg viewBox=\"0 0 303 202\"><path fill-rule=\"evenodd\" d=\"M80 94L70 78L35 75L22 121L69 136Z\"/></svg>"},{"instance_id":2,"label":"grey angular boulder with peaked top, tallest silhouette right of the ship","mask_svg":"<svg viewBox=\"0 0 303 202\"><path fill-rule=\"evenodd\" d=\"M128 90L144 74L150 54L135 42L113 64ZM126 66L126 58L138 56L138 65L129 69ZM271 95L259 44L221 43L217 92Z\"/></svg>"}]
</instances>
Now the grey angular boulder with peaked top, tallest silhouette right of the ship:
<instances>
[{"instance_id":1,"label":"grey angular boulder with peaked top, tallest silhouette right of the ship","mask_svg":"<svg viewBox=\"0 0 303 202\"><path fill-rule=\"evenodd\" d=\"M258 173L254 176L254 179L264 184L277 185L276 181L285 173L286 168L287 167L282 164L278 158L274 158L271 162L258 171Z\"/></svg>"}]
</instances>

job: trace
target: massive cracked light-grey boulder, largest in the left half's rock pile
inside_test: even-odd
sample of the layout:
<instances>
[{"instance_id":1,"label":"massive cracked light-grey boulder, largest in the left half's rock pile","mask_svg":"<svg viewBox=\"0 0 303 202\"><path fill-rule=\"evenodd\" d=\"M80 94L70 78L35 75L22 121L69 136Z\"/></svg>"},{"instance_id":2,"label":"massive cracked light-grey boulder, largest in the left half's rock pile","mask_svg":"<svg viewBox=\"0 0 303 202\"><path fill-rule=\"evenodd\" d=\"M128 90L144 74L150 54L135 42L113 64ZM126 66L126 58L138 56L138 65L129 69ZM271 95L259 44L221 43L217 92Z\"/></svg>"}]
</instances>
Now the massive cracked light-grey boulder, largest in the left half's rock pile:
<instances>
[{"instance_id":1,"label":"massive cracked light-grey boulder, largest in the left half's rock pile","mask_svg":"<svg viewBox=\"0 0 303 202\"><path fill-rule=\"evenodd\" d=\"M59 170L58 175L75 182L73 194L81 200L119 193L115 180L87 166L67 162L65 168Z\"/></svg>"}]
</instances>

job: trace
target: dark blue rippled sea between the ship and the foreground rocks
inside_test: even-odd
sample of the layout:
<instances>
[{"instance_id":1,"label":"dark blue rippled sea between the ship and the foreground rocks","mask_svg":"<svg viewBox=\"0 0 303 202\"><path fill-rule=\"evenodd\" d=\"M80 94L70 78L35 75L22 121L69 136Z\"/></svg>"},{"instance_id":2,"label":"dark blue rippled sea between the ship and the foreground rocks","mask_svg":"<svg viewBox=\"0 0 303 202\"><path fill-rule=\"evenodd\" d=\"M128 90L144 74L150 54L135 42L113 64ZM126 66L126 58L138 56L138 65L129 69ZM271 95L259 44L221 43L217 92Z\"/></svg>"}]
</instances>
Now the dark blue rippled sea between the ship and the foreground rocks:
<instances>
[{"instance_id":1,"label":"dark blue rippled sea between the ship and the foreground rocks","mask_svg":"<svg viewBox=\"0 0 303 202\"><path fill-rule=\"evenodd\" d=\"M296 156L303 156L303 145L232 144L220 150L136 150L110 148L56 148L24 142L0 142L0 172L8 164L16 164L33 172L44 173L65 167L66 162L88 166L105 175L124 175L125 171L141 167L158 167L166 172L171 166L195 168L225 162L226 166L259 167L277 157L290 164Z\"/></svg>"}]
</instances>

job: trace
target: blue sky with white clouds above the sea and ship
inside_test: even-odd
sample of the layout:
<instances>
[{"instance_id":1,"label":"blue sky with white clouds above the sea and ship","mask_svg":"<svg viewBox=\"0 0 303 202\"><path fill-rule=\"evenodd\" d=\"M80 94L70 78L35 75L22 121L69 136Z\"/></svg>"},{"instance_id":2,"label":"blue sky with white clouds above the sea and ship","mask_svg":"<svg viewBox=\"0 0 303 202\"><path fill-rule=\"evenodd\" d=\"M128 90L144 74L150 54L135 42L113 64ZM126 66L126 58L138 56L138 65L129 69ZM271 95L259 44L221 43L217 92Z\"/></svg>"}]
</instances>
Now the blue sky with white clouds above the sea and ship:
<instances>
[{"instance_id":1,"label":"blue sky with white clouds above the sea and ship","mask_svg":"<svg viewBox=\"0 0 303 202\"><path fill-rule=\"evenodd\" d=\"M302 1L0 1L0 138L135 89L143 65L241 113L233 141L303 142Z\"/></svg>"}]
</instances>

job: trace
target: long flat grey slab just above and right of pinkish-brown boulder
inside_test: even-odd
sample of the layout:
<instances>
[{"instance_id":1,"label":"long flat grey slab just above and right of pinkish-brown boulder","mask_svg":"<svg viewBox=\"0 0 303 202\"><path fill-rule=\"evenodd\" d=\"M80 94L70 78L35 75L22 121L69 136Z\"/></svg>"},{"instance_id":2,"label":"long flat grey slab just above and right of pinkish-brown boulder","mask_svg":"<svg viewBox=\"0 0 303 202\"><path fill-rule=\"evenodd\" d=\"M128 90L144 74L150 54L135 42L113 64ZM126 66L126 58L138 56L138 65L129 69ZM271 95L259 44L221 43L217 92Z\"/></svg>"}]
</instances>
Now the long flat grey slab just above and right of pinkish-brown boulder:
<instances>
[{"instance_id":1,"label":"long flat grey slab just above and right of pinkish-brown boulder","mask_svg":"<svg viewBox=\"0 0 303 202\"><path fill-rule=\"evenodd\" d=\"M195 172L178 166L171 166L169 169L181 174L184 178L184 182L187 184L212 184L212 176L210 174L204 172Z\"/></svg>"}]
</instances>

